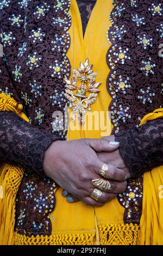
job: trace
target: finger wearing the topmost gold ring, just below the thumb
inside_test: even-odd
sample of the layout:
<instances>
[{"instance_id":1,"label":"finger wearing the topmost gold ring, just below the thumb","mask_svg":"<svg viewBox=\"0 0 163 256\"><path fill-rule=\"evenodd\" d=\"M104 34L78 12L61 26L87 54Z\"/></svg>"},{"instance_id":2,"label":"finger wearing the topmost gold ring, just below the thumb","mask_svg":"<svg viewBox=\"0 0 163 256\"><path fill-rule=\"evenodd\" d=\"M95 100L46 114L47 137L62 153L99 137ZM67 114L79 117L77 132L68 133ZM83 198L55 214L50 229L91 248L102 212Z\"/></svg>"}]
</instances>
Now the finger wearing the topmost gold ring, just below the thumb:
<instances>
[{"instance_id":1,"label":"finger wearing the topmost gold ring, just below the thumb","mask_svg":"<svg viewBox=\"0 0 163 256\"><path fill-rule=\"evenodd\" d=\"M96 162L93 164L96 174L100 175L99 171L102 169L103 165L104 162L102 162L100 159L96 160ZM124 181L126 180L126 173L112 164L108 164L108 170L106 171L104 178L108 180Z\"/></svg>"}]
</instances>

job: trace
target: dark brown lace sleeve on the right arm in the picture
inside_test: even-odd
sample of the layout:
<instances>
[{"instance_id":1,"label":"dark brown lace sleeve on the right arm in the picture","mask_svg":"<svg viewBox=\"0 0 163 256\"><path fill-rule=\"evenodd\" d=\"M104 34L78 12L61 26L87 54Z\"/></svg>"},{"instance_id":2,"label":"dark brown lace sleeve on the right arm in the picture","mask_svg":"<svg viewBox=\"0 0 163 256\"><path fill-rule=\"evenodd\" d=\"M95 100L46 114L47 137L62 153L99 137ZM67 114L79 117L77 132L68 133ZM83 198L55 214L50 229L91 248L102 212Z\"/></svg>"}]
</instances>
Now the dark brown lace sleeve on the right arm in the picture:
<instances>
[{"instance_id":1,"label":"dark brown lace sleeve on the right arm in the picture","mask_svg":"<svg viewBox=\"0 0 163 256\"><path fill-rule=\"evenodd\" d=\"M148 121L145 125L115 135L120 142L120 154L131 176L163 164L163 119Z\"/></svg>"}]
</instances>

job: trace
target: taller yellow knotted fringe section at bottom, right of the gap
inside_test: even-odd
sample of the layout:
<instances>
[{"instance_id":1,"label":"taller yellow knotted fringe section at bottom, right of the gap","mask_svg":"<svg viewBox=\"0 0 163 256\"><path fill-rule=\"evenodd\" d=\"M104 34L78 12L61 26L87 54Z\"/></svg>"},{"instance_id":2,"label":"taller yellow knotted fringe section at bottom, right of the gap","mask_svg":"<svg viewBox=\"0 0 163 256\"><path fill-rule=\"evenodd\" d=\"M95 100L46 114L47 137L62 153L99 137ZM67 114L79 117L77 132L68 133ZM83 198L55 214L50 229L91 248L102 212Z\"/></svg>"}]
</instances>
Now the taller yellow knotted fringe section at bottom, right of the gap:
<instances>
[{"instance_id":1,"label":"taller yellow knotted fringe section at bottom, right of the gap","mask_svg":"<svg viewBox=\"0 0 163 256\"><path fill-rule=\"evenodd\" d=\"M99 225L101 245L139 245L140 226L137 224Z\"/></svg>"}]
</instances>

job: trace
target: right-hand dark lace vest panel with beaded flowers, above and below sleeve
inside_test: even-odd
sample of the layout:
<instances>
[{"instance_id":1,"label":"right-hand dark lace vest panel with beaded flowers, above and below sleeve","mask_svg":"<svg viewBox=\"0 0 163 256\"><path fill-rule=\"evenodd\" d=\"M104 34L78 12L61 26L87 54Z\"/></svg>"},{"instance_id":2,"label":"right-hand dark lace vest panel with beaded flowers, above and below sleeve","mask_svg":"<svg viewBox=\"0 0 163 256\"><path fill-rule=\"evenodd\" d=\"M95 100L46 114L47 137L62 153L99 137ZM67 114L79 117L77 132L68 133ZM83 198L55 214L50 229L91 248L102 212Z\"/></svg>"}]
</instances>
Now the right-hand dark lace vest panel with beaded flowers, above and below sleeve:
<instances>
[{"instance_id":1,"label":"right-hand dark lace vest panel with beaded flowers, above and below sleeve","mask_svg":"<svg viewBox=\"0 0 163 256\"><path fill-rule=\"evenodd\" d=\"M158 54L161 33L158 33L157 29L161 26L162 15L159 1L155 1L155 7L153 1L147 0L114 1L114 9L110 14L112 25L108 31L108 40L112 45L106 56L111 70L107 79L107 87L112 97L109 106L111 121L114 125L112 133L116 134L134 126L139 127L143 116L161 107L163 58ZM131 132L133 132L132 129ZM116 138L120 137L117 135ZM123 135L122 138L124 139ZM129 139L128 136L127 138L130 144L131 138ZM139 138L137 140L139 141ZM123 147L124 153L122 153L122 147L120 149L122 157L124 154L129 155L128 148L124 148L125 146ZM129 159L126 159L126 156L123 159L128 163ZM135 162L137 163L136 160ZM145 161L144 164L147 162ZM135 173L135 176L141 173L140 168L138 169L136 171L133 165L130 167L130 171L132 174ZM143 179L139 179L129 180L127 191L118 195L119 202L125 208L125 223L140 222ZM137 184L137 190L135 184ZM131 200L130 190L131 192L135 190L138 196L141 195L139 201L135 201L136 205L134 202L136 194L133 194L134 198Z\"/></svg>"}]
</instances>

